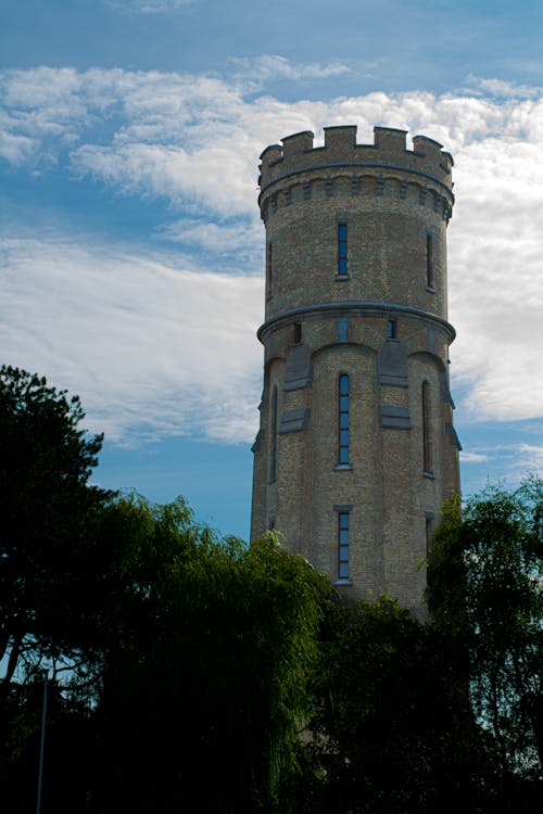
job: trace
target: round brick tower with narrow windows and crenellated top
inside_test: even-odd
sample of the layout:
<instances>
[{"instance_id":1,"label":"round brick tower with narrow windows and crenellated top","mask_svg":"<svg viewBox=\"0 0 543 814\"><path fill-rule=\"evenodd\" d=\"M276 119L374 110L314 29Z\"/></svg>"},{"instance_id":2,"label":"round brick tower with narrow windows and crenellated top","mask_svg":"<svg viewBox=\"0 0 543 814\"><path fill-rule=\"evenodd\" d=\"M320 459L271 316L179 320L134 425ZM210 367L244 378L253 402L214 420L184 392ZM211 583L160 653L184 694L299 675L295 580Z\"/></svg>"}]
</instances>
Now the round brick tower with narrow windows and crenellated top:
<instances>
[{"instance_id":1,"label":"round brick tower with narrow windows and crenellated top","mask_svg":"<svg viewBox=\"0 0 543 814\"><path fill-rule=\"evenodd\" d=\"M453 160L376 127L299 132L261 156L266 313L252 538L267 529L353 597L417 608L458 489L449 390Z\"/></svg>"}]
</instances>

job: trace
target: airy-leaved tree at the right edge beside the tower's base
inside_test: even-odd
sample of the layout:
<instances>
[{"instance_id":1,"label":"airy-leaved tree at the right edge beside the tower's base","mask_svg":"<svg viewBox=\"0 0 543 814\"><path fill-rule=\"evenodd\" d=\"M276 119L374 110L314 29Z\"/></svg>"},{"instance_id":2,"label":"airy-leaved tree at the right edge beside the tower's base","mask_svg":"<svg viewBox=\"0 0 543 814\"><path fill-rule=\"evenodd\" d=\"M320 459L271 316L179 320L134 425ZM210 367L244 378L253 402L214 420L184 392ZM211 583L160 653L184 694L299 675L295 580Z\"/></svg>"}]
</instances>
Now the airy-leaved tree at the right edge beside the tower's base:
<instances>
[{"instance_id":1,"label":"airy-leaved tree at the right edge beside the tower's base","mask_svg":"<svg viewBox=\"0 0 543 814\"><path fill-rule=\"evenodd\" d=\"M430 560L430 608L506 779L542 778L542 518L541 480L489 486L449 505Z\"/></svg>"}]
</instances>

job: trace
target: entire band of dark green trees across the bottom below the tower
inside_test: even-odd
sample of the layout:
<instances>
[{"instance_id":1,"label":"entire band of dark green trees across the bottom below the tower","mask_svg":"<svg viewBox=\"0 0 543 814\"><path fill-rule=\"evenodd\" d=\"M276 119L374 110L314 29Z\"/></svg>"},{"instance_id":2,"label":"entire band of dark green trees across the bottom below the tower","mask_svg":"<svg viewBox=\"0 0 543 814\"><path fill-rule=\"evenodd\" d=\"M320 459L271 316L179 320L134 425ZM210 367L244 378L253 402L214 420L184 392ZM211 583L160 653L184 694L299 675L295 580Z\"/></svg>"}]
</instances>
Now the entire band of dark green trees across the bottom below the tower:
<instances>
[{"instance_id":1,"label":"entire band of dark green trees across the bottom below the tower","mask_svg":"<svg viewBox=\"0 0 543 814\"><path fill-rule=\"evenodd\" d=\"M2 805L59 814L465 814L541 793L541 481L444 510L422 624L89 486L77 398L0 370ZM5 659L4 659L5 663ZM194 802L197 801L197 802Z\"/></svg>"}]
</instances>

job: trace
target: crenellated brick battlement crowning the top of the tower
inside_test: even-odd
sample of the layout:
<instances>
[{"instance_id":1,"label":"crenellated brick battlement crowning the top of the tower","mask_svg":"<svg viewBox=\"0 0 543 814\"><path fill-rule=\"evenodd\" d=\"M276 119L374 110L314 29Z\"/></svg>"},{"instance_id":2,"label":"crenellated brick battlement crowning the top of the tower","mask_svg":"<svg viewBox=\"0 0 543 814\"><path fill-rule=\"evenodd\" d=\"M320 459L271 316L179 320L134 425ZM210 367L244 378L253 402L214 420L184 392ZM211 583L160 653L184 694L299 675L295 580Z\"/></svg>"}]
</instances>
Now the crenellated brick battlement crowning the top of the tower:
<instances>
[{"instance_id":1,"label":"crenellated brick battlement crowning the top of the tower","mask_svg":"<svg viewBox=\"0 0 543 814\"><path fill-rule=\"evenodd\" d=\"M442 145L427 136L415 136L413 150L406 147L406 130L374 127L374 143L356 143L356 125L325 127L324 147L314 147L311 130L295 132L272 144L261 155L261 188L286 176L319 167L383 167L418 173L452 189L453 158Z\"/></svg>"}]
</instances>

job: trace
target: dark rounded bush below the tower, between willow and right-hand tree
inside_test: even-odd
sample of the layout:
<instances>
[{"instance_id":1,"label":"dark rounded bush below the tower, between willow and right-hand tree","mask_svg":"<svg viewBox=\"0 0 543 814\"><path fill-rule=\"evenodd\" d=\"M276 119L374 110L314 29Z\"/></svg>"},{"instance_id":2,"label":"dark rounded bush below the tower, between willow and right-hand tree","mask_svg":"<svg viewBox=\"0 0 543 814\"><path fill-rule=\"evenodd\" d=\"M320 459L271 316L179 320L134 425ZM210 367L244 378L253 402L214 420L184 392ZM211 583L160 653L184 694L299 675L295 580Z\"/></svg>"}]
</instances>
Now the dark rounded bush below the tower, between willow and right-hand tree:
<instances>
[{"instance_id":1,"label":"dark rounded bush below the tower, between willow and right-hand tree","mask_svg":"<svg viewBox=\"0 0 543 814\"><path fill-rule=\"evenodd\" d=\"M289 811L478 811L472 718L442 644L384 595L328 605L306 776Z\"/></svg>"}]
</instances>

